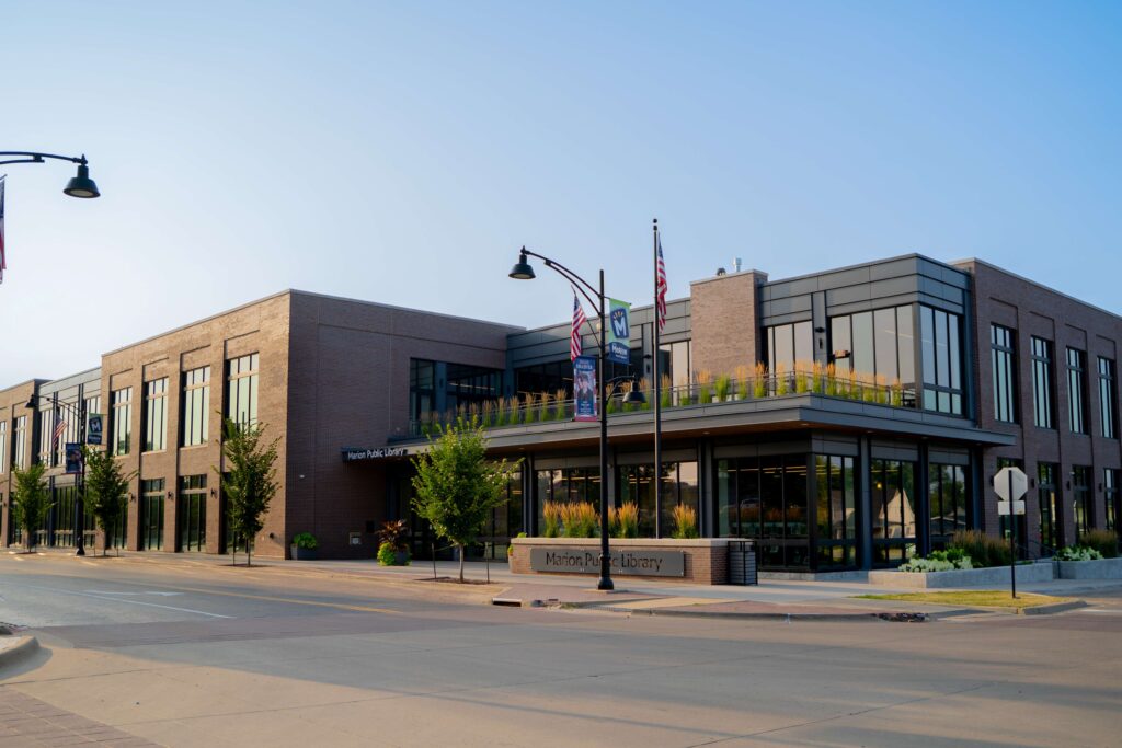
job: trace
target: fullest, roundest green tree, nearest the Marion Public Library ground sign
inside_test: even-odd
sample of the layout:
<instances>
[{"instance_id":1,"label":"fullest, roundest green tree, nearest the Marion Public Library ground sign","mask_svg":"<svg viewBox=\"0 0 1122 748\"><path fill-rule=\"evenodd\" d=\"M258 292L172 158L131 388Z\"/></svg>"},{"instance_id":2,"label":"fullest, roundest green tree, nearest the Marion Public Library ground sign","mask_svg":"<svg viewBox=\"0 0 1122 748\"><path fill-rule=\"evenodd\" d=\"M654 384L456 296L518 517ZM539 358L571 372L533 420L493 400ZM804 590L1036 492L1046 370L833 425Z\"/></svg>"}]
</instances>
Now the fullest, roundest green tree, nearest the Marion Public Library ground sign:
<instances>
[{"instance_id":1,"label":"fullest, roundest green tree, nearest the Marion Public Library ground sign","mask_svg":"<svg viewBox=\"0 0 1122 748\"><path fill-rule=\"evenodd\" d=\"M456 545L463 582L465 548L506 501L506 482L517 463L488 461L482 426L461 418L430 436L429 450L413 458L413 509Z\"/></svg>"}]
</instances>

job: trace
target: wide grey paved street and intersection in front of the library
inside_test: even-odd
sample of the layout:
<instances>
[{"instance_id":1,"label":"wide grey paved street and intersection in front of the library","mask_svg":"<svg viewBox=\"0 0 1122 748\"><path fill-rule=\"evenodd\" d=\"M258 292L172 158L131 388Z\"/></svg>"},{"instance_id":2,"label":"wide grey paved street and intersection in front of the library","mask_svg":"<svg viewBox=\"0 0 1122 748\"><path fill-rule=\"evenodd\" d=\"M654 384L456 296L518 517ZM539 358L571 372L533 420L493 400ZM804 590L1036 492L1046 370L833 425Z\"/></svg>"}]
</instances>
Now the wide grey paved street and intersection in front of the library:
<instances>
[{"instance_id":1,"label":"wide grey paved street and intersection in front of the library","mask_svg":"<svg viewBox=\"0 0 1122 748\"><path fill-rule=\"evenodd\" d=\"M495 608L453 587L0 557L0 621L46 647L0 692L169 746L1120 742L1118 597L783 624Z\"/></svg>"}]
</instances>

